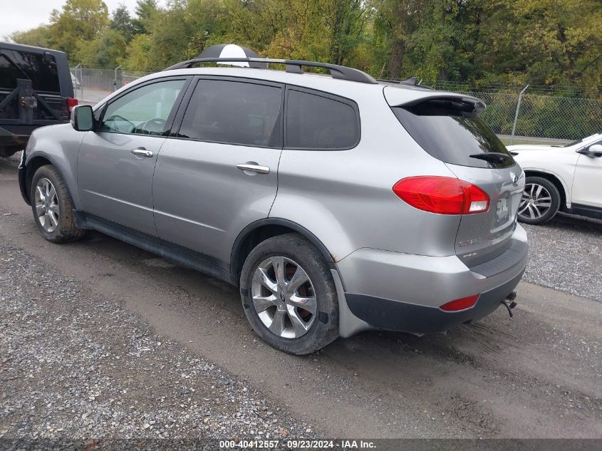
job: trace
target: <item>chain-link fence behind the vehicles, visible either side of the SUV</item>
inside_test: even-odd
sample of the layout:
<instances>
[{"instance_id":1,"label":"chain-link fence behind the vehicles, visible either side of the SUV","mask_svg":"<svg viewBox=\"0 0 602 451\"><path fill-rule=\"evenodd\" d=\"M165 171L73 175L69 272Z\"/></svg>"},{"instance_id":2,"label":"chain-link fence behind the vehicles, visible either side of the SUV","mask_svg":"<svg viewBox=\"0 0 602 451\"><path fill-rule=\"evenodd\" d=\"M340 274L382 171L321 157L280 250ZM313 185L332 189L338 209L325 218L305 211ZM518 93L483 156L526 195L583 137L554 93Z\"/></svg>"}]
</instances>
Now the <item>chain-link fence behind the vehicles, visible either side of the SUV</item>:
<instances>
[{"instance_id":1,"label":"chain-link fence behind the vehicles, visible either side of the SUV","mask_svg":"<svg viewBox=\"0 0 602 451\"><path fill-rule=\"evenodd\" d=\"M71 68L75 76L76 95L83 103L97 103L123 85L148 75L147 72L115 69ZM588 98L579 90L563 90L549 86L470 85L437 81L422 84L438 90L449 90L480 98L487 104L482 118L498 135L514 135L521 139L578 140L602 132L602 93ZM515 124L516 118L516 124Z\"/></svg>"}]
</instances>

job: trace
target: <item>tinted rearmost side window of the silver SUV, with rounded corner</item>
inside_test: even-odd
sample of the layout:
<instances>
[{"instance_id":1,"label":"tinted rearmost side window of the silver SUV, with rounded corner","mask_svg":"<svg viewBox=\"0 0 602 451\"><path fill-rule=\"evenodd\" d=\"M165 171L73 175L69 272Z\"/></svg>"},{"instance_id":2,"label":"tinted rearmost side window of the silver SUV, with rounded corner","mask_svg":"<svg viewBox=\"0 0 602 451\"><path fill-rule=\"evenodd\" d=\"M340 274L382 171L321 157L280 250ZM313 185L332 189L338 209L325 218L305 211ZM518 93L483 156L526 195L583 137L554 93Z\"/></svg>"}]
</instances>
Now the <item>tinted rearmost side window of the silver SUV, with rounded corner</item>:
<instances>
[{"instance_id":1,"label":"tinted rearmost side window of the silver SUV, with rounded corner","mask_svg":"<svg viewBox=\"0 0 602 451\"><path fill-rule=\"evenodd\" d=\"M348 149L360 138L356 110L348 103L289 90L286 147Z\"/></svg>"}]
</instances>

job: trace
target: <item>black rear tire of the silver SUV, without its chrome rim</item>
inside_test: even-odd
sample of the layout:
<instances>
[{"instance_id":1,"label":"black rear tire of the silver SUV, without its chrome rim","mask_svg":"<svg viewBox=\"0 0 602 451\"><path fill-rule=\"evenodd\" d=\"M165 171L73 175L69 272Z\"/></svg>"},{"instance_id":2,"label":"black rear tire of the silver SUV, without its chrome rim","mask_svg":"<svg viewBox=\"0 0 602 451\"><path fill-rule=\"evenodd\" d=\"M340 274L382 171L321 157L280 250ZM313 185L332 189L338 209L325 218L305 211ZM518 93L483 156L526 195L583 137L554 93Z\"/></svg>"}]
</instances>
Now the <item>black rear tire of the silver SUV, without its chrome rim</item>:
<instances>
[{"instance_id":1,"label":"black rear tire of the silver SUV, without its chrome rim","mask_svg":"<svg viewBox=\"0 0 602 451\"><path fill-rule=\"evenodd\" d=\"M283 338L270 331L259 318L254 306L251 287L255 271L262 262L273 256L282 256L296 262L306 272L313 286L313 295L317 301L316 317L311 326L308 326L307 332L299 338ZM331 271L320 252L301 235L284 234L258 244L246 257L240 286L246 318L254 331L270 346L286 353L302 355L317 351L338 338L338 300Z\"/></svg>"}]
</instances>

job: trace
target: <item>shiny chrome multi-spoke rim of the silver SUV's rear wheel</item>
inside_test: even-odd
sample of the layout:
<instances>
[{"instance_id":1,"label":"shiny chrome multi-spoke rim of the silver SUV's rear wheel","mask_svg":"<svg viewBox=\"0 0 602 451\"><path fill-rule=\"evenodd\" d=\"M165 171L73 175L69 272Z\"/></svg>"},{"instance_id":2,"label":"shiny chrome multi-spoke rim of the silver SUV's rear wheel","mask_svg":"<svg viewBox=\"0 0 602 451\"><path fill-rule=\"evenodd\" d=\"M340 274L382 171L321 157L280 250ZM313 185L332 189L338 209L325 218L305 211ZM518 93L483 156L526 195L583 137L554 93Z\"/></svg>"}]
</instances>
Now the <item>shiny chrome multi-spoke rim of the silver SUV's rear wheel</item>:
<instances>
[{"instance_id":1,"label":"shiny chrome multi-spoke rim of the silver SUV's rear wheel","mask_svg":"<svg viewBox=\"0 0 602 451\"><path fill-rule=\"evenodd\" d=\"M282 338L305 335L316 319L316 291L306 271L284 256L257 266L251 284L255 311L264 326Z\"/></svg>"}]
</instances>

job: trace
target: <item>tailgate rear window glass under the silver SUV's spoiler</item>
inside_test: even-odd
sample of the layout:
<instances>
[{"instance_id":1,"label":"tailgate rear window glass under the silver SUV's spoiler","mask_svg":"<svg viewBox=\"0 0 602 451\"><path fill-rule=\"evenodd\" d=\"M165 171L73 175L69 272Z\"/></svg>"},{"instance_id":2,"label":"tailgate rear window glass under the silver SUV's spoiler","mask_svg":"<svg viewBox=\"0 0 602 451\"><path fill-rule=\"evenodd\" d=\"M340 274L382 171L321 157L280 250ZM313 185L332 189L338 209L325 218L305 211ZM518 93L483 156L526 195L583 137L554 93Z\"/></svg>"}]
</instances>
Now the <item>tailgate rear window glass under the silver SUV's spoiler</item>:
<instances>
[{"instance_id":1,"label":"tailgate rear window glass under the silver SUV's spoiler","mask_svg":"<svg viewBox=\"0 0 602 451\"><path fill-rule=\"evenodd\" d=\"M411 107L392 109L420 147L438 160L452 165L488 168L515 164L502 141L466 105L449 100L427 100ZM471 157L491 152L507 157L497 161Z\"/></svg>"}]
</instances>

